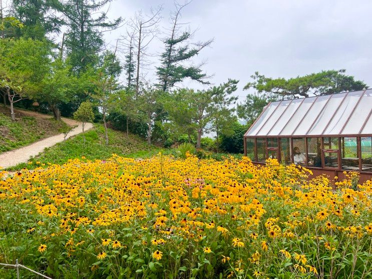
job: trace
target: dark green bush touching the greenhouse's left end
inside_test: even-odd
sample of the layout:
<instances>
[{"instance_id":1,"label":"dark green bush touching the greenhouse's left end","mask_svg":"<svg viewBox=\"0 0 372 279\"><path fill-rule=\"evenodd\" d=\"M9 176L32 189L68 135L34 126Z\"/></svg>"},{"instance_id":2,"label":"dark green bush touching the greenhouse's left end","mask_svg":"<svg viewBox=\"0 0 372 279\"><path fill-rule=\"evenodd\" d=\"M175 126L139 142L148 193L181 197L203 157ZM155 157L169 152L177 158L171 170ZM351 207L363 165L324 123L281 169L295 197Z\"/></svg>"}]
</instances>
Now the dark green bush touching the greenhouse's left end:
<instances>
[{"instance_id":1,"label":"dark green bush touching the greenhouse's left end","mask_svg":"<svg viewBox=\"0 0 372 279\"><path fill-rule=\"evenodd\" d=\"M231 135L222 135L220 148L228 153L243 153L243 136L247 131L247 126L241 125L239 122L231 123L233 133Z\"/></svg>"}]
</instances>

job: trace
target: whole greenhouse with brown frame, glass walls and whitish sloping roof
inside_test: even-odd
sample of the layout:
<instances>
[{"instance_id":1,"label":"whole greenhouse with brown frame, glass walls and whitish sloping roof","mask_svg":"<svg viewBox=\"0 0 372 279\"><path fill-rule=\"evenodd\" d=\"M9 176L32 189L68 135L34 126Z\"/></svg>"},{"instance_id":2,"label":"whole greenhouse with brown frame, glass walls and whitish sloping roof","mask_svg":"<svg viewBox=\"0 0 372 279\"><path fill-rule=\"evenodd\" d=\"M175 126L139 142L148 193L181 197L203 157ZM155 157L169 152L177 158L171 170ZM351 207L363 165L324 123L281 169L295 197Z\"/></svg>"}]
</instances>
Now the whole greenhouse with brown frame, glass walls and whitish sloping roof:
<instances>
[{"instance_id":1,"label":"whole greenhouse with brown frame, glass walls and whitish sloping roof","mask_svg":"<svg viewBox=\"0 0 372 279\"><path fill-rule=\"evenodd\" d=\"M313 173L372 177L372 89L269 103L244 135L254 163L276 158Z\"/></svg>"}]
</instances>

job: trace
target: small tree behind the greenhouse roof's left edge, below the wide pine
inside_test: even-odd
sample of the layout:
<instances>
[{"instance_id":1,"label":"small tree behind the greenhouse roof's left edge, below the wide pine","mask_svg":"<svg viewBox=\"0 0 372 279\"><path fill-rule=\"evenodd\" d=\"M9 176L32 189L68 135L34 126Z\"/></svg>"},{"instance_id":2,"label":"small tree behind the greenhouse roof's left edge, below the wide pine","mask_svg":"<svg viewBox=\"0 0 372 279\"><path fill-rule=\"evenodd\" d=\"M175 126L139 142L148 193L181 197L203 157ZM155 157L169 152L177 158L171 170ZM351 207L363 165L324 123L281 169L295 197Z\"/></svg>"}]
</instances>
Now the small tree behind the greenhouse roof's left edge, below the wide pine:
<instances>
[{"instance_id":1,"label":"small tree behind the greenhouse roof's left edge, below the wide pine","mask_svg":"<svg viewBox=\"0 0 372 279\"><path fill-rule=\"evenodd\" d=\"M263 108L273 101L277 101L278 96L267 93L248 94L245 101L236 106L238 117L246 121L250 126L263 111Z\"/></svg>"}]
</instances>

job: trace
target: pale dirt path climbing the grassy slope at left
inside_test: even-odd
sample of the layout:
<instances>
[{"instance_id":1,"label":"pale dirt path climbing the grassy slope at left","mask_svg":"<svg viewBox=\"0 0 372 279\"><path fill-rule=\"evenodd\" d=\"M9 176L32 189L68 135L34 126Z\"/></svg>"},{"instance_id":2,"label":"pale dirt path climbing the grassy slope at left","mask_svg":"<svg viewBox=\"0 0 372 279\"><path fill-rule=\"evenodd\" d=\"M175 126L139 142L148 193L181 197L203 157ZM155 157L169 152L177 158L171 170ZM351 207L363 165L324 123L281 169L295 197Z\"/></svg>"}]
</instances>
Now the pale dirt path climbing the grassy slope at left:
<instances>
[{"instance_id":1,"label":"pale dirt path climbing the grassy slope at left","mask_svg":"<svg viewBox=\"0 0 372 279\"><path fill-rule=\"evenodd\" d=\"M33 111L24 111L21 110L22 114L24 115L29 115L33 117L39 117L39 118L51 118L50 115L47 114L41 114ZM70 126L76 126L71 132L67 135L66 139L78 135L82 132L82 123L69 119L69 118L64 118L61 117L61 119ZM93 127L93 124L91 123L86 123L84 130L87 131ZM31 156L36 156L40 152L42 152L45 148L47 147L52 147L56 143L64 141L64 134L59 134L53 137L49 137L46 139L43 139L41 141L34 142L33 144L30 144L28 146L22 147L20 149L8 151L5 153L0 154L0 169L2 168L8 168L15 166L19 163L26 163Z\"/></svg>"}]
</instances>

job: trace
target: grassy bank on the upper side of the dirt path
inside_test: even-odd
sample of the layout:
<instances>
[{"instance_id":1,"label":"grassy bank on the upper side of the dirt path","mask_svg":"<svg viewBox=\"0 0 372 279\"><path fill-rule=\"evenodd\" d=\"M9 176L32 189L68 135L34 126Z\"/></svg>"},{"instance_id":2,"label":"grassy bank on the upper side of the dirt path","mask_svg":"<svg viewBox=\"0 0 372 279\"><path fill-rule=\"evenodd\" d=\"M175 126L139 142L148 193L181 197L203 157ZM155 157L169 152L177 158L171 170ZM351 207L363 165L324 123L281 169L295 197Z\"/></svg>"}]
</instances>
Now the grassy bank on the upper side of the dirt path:
<instances>
[{"instance_id":1,"label":"grassy bank on the upper side of the dirt path","mask_svg":"<svg viewBox=\"0 0 372 279\"><path fill-rule=\"evenodd\" d=\"M12 121L9 108L0 106L0 153L17 149L50 136L60 134L67 124L23 114L17 110L18 121Z\"/></svg>"}]
</instances>

